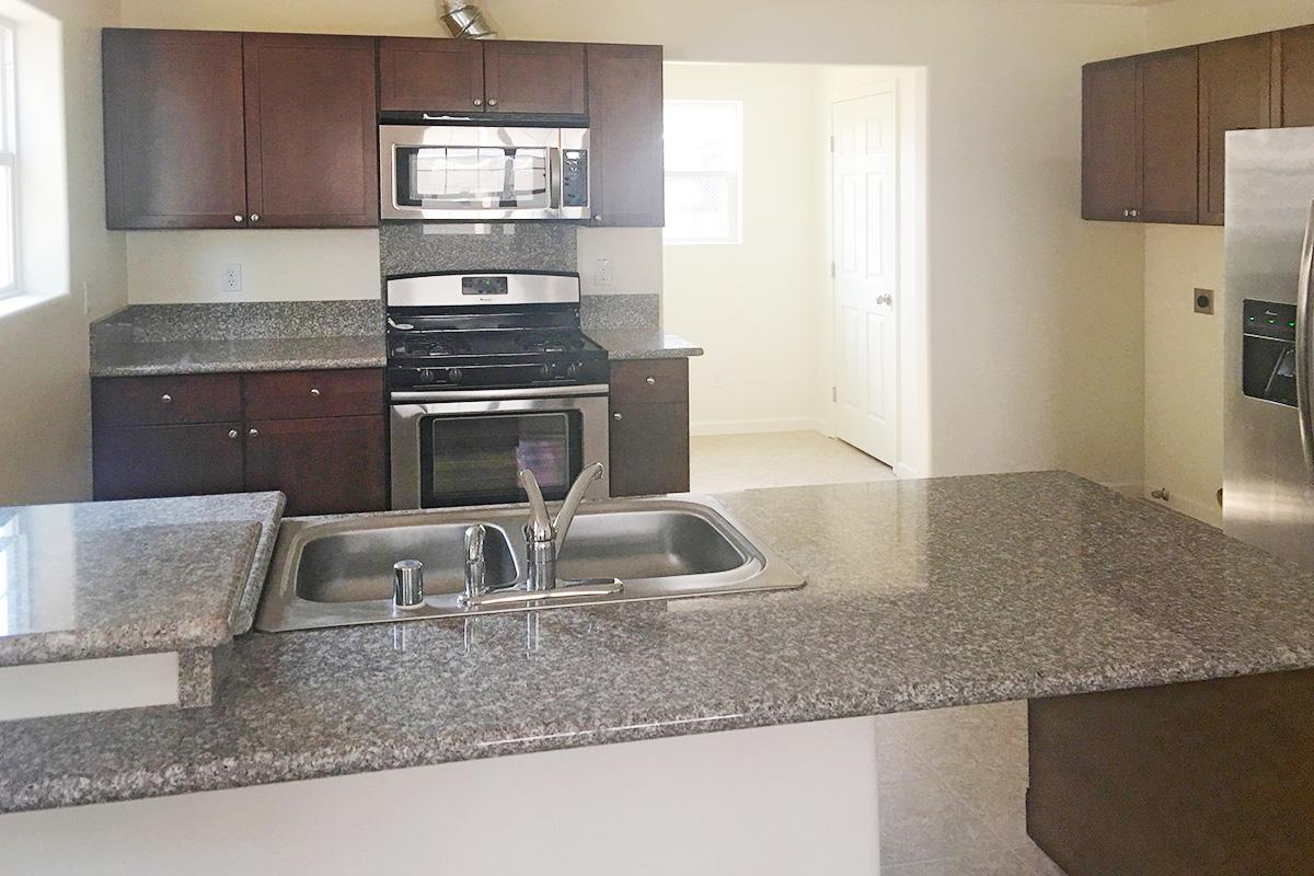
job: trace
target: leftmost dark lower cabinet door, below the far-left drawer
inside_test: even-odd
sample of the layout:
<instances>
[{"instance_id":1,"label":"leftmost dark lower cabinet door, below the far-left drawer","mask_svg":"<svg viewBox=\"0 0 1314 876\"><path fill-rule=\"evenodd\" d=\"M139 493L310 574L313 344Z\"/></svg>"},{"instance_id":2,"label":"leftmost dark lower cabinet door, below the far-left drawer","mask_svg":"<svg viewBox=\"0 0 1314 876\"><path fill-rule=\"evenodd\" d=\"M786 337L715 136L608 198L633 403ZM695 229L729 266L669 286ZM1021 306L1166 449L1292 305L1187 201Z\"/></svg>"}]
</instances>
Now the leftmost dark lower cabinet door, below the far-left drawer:
<instances>
[{"instance_id":1,"label":"leftmost dark lower cabinet door, below the far-left drawer","mask_svg":"<svg viewBox=\"0 0 1314 876\"><path fill-rule=\"evenodd\" d=\"M95 496L154 499L240 493L240 428L239 423L96 427Z\"/></svg>"}]
</instances>

